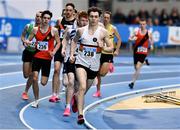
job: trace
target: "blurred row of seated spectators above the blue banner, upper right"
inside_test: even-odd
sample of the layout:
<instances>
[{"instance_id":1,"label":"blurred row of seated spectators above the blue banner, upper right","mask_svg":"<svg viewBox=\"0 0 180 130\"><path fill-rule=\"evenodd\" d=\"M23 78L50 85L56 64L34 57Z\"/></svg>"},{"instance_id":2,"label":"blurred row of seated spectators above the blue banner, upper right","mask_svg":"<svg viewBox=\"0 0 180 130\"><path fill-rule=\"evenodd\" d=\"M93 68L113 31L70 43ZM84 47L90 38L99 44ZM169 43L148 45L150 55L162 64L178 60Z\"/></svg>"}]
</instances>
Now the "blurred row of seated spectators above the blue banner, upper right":
<instances>
[{"instance_id":1,"label":"blurred row of seated spectators above the blue banner, upper right","mask_svg":"<svg viewBox=\"0 0 180 130\"><path fill-rule=\"evenodd\" d=\"M150 26L180 26L180 14L178 8L175 7L170 12L167 12L165 8L162 10L154 8L152 12L143 8L138 12L132 9L128 15L125 15L123 10L117 9L112 20L113 23L138 24L142 17L147 19Z\"/></svg>"}]
</instances>

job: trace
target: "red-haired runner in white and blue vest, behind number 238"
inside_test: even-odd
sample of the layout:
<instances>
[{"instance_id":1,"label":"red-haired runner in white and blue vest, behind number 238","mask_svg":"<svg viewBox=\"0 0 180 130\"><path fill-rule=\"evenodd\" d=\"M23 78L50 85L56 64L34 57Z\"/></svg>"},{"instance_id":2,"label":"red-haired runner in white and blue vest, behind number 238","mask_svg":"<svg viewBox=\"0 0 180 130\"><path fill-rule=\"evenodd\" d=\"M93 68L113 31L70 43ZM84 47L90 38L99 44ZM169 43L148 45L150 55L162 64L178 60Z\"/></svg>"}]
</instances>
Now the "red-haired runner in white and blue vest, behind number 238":
<instances>
[{"instance_id":1,"label":"red-haired runner in white and blue vest, behind number 238","mask_svg":"<svg viewBox=\"0 0 180 130\"><path fill-rule=\"evenodd\" d=\"M88 24L88 14L85 11L78 13L77 28L86 26ZM75 64L69 61L71 40L76 34L76 29L67 28L67 33L63 39L62 54L65 56L65 63L63 68L63 84L66 86L66 108L64 110L64 116L70 116L70 103L74 94L75 83Z\"/></svg>"}]
</instances>

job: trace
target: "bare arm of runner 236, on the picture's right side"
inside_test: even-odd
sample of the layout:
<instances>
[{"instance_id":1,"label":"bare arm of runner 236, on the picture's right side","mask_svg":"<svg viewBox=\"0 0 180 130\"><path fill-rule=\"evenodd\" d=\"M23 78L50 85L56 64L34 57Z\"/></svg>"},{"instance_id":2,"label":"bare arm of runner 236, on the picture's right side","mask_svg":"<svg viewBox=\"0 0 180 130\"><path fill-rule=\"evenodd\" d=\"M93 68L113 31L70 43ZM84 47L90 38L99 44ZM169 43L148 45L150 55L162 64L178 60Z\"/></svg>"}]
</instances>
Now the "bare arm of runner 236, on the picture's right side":
<instances>
[{"instance_id":1,"label":"bare arm of runner 236, on the picture's right side","mask_svg":"<svg viewBox=\"0 0 180 130\"><path fill-rule=\"evenodd\" d=\"M60 37L59 37L59 33L58 33L58 30L54 27L52 27L53 29L53 32L54 32L54 38L55 38L55 41L56 41L56 46L55 48L53 49L51 56L53 57L55 55L55 53L57 52L57 50L59 49L60 45L61 45L61 42L60 42Z\"/></svg>"}]
</instances>

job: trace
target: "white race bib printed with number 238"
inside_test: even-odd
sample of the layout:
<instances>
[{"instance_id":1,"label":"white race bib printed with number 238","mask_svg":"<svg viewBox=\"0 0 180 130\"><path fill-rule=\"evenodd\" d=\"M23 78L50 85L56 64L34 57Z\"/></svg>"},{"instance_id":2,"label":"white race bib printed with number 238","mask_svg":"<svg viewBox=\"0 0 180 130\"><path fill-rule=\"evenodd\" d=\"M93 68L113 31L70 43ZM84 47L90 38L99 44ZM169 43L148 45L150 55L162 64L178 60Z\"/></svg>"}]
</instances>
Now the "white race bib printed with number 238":
<instances>
[{"instance_id":1,"label":"white race bib printed with number 238","mask_svg":"<svg viewBox=\"0 0 180 130\"><path fill-rule=\"evenodd\" d=\"M83 56L95 58L96 50L97 50L97 48L95 48L95 47L84 47L83 48Z\"/></svg>"}]
</instances>

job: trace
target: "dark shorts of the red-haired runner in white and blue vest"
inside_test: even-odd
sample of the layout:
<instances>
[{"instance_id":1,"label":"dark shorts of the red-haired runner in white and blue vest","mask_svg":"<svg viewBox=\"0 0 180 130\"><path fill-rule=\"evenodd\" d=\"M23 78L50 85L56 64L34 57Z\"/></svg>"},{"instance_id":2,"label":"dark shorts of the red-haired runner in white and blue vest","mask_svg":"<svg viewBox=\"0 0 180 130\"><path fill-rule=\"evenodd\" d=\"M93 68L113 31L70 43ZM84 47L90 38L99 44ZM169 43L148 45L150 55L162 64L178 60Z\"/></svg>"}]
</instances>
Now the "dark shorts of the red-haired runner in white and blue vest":
<instances>
[{"instance_id":1,"label":"dark shorts of the red-haired runner in white and blue vest","mask_svg":"<svg viewBox=\"0 0 180 130\"><path fill-rule=\"evenodd\" d=\"M69 59L64 63L63 74L75 73L75 63L71 63Z\"/></svg>"}]
</instances>

